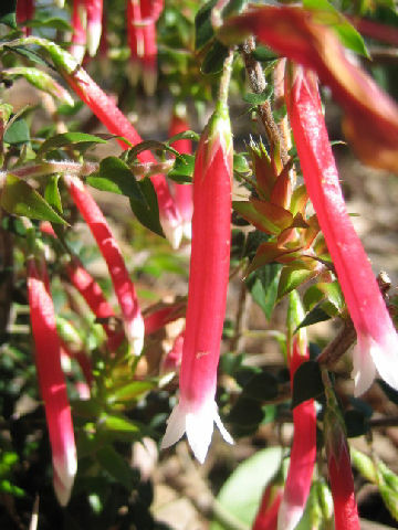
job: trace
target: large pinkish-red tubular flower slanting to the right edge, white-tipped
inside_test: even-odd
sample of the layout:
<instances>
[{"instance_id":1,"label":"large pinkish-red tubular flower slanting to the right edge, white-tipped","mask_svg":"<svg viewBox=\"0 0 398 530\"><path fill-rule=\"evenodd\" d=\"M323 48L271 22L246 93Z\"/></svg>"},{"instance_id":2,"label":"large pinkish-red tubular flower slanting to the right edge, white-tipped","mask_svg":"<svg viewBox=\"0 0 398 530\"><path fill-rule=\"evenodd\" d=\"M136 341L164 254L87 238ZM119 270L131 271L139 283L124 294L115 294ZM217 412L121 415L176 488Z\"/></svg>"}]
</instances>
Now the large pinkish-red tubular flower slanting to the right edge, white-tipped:
<instances>
[{"instance_id":1,"label":"large pinkish-red tubular flower slanting to the right edge, white-tipped","mask_svg":"<svg viewBox=\"0 0 398 530\"><path fill-rule=\"evenodd\" d=\"M346 210L316 78L296 70L286 86L286 106L305 186L332 256L357 332L355 395L371 384L376 368L398 389L398 337L369 259Z\"/></svg>"}]
</instances>

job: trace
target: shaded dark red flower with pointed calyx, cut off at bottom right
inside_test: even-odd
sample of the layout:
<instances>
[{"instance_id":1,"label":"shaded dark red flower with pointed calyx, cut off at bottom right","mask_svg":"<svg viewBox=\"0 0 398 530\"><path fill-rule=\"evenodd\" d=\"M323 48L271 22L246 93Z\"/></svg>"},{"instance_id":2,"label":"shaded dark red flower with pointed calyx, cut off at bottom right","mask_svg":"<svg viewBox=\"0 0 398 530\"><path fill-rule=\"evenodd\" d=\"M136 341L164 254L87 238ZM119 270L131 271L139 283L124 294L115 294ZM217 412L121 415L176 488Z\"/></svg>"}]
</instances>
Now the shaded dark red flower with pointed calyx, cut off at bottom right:
<instances>
[{"instance_id":1,"label":"shaded dark red flower with pointed calyx, cut off at bottom right","mask_svg":"<svg viewBox=\"0 0 398 530\"><path fill-rule=\"evenodd\" d=\"M324 372L323 378L326 381L327 400L324 416L324 438L334 505L335 530L359 530L358 508L355 500L354 478L344 420L339 413L326 372Z\"/></svg>"}]
</instances>

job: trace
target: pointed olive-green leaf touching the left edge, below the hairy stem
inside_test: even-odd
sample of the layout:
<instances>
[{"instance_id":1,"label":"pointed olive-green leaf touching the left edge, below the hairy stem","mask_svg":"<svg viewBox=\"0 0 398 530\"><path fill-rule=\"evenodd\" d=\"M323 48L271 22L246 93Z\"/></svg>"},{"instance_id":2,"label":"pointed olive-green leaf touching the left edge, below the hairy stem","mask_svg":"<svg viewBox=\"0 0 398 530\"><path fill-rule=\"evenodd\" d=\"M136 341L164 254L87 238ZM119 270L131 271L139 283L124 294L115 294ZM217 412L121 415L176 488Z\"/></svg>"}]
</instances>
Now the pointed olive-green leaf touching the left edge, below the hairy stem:
<instances>
[{"instance_id":1,"label":"pointed olive-green leaf touching the left edge, below the hairy stem","mask_svg":"<svg viewBox=\"0 0 398 530\"><path fill-rule=\"evenodd\" d=\"M67 224L33 188L13 174L7 176L1 205L14 215Z\"/></svg>"}]
</instances>

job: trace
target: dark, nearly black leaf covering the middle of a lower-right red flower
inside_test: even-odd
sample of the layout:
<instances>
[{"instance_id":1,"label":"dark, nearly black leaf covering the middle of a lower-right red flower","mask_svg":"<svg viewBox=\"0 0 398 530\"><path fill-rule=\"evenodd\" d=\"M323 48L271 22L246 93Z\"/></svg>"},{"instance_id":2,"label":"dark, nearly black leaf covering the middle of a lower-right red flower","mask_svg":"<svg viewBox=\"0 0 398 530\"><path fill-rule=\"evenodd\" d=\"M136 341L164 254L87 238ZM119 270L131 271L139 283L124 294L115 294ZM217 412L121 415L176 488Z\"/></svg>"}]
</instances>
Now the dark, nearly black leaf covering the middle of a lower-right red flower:
<instances>
[{"instance_id":1,"label":"dark, nearly black leaf covering the middle of a lower-right red flower","mask_svg":"<svg viewBox=\"0 0 398 530\"><path fill-rule=\"evenodd\" d=\"M320 364L316 361L303 362L293 379L292 409L306 400L318 398L323 392Z\"/></svg>"}]
</instances>

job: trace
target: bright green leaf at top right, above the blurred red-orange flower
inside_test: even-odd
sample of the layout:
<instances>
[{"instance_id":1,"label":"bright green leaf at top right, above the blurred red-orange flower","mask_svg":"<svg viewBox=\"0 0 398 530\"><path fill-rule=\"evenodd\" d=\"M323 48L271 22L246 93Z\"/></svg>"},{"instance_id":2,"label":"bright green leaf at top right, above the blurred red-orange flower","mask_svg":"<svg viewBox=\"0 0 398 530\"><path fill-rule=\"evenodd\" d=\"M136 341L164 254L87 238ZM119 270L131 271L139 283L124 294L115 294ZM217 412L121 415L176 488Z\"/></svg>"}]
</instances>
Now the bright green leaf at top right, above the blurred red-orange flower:
<instances>
[{"instance_id":1,"label":"bright green leaf at top right, above the blurred red-orange flower","mask_svg":"<svg viewBox=\"0 0 398 530\"><path fill-rule=\"evenodd\" d=\"M320 22L331 25L346 47L370 59L360 33L327 0L303 0L303 7L315 11Z\"/></svg>"}]
</instances>

